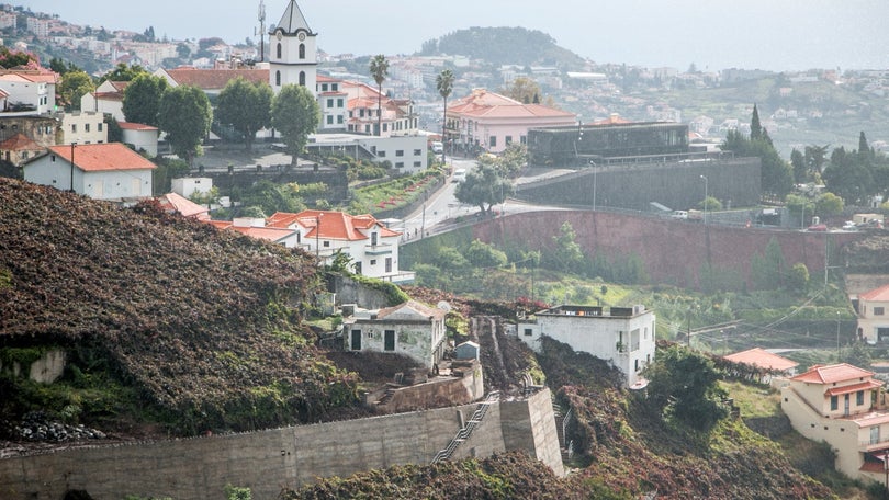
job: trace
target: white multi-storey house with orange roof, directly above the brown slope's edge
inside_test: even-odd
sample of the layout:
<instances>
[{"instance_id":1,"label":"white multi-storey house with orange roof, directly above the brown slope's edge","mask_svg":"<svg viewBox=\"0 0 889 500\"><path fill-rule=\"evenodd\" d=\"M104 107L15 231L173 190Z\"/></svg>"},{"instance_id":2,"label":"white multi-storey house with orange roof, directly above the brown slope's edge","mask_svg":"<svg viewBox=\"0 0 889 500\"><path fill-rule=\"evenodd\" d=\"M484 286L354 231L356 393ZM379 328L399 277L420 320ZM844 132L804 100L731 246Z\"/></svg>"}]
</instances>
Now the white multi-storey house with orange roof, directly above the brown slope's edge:
<instances>
[{"instance_id":1,"label":"white multi-storey house with orange roof, directly above the brown slope's edge","mask_svg":"<svg viewBox=\"0 0 889 500\"><path fill-rule=\"evenodd\" d=\"M297 241L320 263L330 263L337 252L349 255L356 274L393 283L408 283L414 273L398 270L401 232L389 229L372 215L335 211L279 212L266 227L296 231Z\"/></svg>"}]
</instances>

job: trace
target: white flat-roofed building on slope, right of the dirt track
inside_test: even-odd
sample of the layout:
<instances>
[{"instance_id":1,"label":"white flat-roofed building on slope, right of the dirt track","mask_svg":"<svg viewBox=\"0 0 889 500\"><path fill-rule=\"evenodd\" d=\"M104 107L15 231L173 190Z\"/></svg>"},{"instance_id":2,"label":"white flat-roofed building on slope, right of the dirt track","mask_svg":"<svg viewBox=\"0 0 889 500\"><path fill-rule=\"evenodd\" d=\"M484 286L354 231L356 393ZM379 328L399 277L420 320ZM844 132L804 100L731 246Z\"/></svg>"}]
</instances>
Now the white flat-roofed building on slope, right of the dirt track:
<instances>
[{"instance_id":1,"label":"white flat-roofed building on slope, right of the dirt track","mask_svg":"<svg viewBox=\"0 0 889 500\"><path fill-rule=\"evenodd\" d=\"M516 334L534 351L549 337L611 362L627 376L627 386L644 380L639 373L654 361L654 312L645 306L556 306L519 322Z\"/></svg>"}]
</instances>

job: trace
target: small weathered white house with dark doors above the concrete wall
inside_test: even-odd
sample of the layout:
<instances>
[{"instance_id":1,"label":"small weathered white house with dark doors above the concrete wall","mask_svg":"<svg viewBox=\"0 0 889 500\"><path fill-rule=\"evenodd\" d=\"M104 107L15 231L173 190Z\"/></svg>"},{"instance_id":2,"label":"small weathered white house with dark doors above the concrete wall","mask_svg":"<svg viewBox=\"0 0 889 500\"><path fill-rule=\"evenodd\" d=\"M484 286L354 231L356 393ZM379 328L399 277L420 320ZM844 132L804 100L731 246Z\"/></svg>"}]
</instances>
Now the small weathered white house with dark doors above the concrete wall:
<instances>
[{"instance_id":1,"label":"small weathered white house with dark doors above the concrete wall","mask_svg":"<svg viewBox=\"0 0 889 500\"><path fill-rule=\"evenodd\" d=\"M447 346L447 311L408 300L379 310L357 310L344 319L347 351L404 354L432 370Z\"/></svg>"}]
</instances>

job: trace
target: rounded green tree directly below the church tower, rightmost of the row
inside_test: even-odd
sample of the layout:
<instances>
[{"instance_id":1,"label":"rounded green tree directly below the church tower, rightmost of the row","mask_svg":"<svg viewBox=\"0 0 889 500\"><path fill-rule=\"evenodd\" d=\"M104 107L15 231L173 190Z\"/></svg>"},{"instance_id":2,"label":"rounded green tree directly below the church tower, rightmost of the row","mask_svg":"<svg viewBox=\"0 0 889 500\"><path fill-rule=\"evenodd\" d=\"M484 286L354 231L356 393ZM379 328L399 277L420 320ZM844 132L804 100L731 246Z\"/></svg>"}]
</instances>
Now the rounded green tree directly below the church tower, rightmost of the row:
<instances>
[{"instance_id":1,"label":"rounded green tree directly below the church tower, rightmost of the row","mask_svg":"<svg viewBox=\"0 0 889 500\"><path fill-rule=\"evenodd\" d=\"M291 164L296 164L308 141L308 135L320 123L318 101L305 87L286 84L272 100L271 123L283 136L291 155Z\"/></svg>"}]
</instances>

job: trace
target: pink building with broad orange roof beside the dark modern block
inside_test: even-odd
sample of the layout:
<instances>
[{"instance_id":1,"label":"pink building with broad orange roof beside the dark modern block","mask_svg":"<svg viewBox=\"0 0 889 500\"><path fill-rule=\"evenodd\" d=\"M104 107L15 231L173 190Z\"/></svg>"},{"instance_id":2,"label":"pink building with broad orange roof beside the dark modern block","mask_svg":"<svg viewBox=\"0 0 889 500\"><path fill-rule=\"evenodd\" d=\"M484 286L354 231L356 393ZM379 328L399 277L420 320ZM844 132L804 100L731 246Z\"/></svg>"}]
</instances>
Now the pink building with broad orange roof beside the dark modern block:
<instances>
[{"instance_id":1,"label":"pink building with broad orange roof beside the dark modern block","mask_svg":"<svg viewBox=\"0 0 889 500\"><path fill-rule=\"evenodd\" d=\"M486 89L448 104L446 140L466 150L500 152L511 143L526 144L528 130L570 126L577 116L542 104L522 104Z\"/></svg>"}]
</instances>

